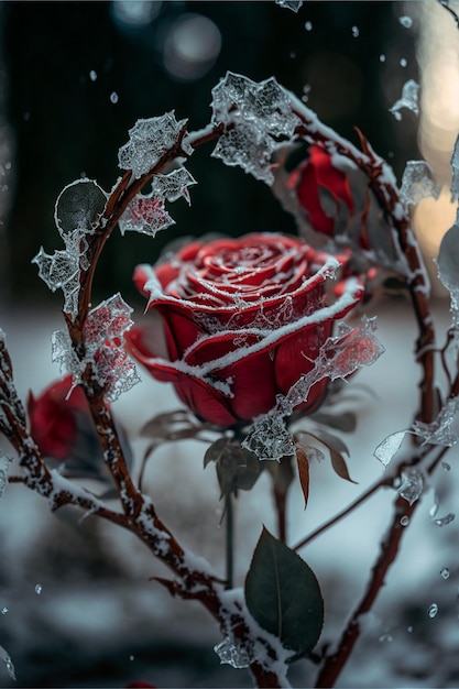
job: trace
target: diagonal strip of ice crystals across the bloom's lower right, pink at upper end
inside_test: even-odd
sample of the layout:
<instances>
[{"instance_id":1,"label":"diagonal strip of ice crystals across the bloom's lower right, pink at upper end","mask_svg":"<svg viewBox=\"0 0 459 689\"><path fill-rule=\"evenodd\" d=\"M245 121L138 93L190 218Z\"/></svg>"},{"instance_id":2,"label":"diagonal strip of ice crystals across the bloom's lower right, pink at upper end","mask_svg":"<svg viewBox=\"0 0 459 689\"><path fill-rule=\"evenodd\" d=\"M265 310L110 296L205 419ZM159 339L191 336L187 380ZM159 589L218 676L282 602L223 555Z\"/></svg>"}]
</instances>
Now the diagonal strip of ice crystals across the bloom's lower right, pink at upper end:
<instances>
[{"instance_id":1,"label":"diagonal strip of ice crystals across the bloom's lower right, pink at upper end","mask_svg":"<svg viewBox=\"0 0 459 689\"><path fill-rule=\"evenodd\" d=\"M285 426L285 416L306 402L309 391L318 381L329 378L335 381L346 379L362 365L371 365L383 353L384 348L373 335L375 319L362 319L360 328L340 324L338 336L326 340L314 368L289 389L278 395L276 406L255 422L242 447L254 452L259 459L280 460L293 455L295 446Z\"/></svg>"}]
</instances>

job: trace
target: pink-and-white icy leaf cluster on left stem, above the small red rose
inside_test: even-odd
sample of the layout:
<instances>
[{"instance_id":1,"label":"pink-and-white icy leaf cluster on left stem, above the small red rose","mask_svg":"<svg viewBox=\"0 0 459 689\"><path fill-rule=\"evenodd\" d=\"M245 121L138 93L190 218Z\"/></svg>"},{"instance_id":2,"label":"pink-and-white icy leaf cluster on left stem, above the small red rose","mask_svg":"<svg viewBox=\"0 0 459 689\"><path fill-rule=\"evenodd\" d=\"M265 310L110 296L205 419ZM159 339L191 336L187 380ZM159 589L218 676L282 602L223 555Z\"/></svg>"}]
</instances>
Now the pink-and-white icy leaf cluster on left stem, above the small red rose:
<instances>
[{"instance_id":1,"label":"pink-and-white icy leaf cluster on left stem, above the small red rose","mask_svg":"<svg viewBox=\"0 0 459 689\"><path fill-rule=\"evenodd\" d=\"M135 385L140 379L123 348L123 333L132 326L131 313L132 308L119 294L89 311L84 328L86 356L83 361L73 350L67 333L53 332L53 361L61 363L61 372L72 373L77 385L90 363L108 402L114 402Z\"/></svg>"}]
</instances>

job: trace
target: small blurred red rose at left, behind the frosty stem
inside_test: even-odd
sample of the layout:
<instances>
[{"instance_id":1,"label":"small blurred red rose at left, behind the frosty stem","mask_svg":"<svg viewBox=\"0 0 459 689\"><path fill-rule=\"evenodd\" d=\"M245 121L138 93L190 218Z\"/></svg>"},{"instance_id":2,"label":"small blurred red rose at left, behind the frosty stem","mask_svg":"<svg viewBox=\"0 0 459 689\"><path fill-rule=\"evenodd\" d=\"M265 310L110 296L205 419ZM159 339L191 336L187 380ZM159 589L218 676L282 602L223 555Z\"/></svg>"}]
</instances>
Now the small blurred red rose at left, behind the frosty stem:
<instances>
[{"instance_id":1,"label":"small blurred red rose at left, behind the frosty stem","mask_svg":"<svg viewBox=\"0 0 459 689\"><path fill-rule=\"evenodd\" d=\"M89 417L89 407L80 387L72 389L72 375L47 387L39 397L29 393L28 412L31 435L44 457L67 459L77 437L77 414Z\"/></svg>"}]
</instances>

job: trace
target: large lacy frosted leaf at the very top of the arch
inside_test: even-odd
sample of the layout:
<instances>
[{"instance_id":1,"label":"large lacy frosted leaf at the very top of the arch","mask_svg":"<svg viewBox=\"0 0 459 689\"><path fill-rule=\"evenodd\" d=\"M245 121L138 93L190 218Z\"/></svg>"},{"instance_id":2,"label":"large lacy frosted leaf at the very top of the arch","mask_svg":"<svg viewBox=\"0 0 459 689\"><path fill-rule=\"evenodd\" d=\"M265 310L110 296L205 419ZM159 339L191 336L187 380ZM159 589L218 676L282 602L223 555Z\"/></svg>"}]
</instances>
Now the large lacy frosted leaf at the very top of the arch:
<instances>
[{"instance_id":1,"label":"large lacy frosted leaf at the very top of the arch","mask_svg":"<svg viewBox=\"0 0 459 689\"><path fill-rule=\"evenodd\" d=\"M299 122L287 92L274 77L256 84L228 72L212 97L212 123L226 125L212 156L273 184L272 153L292 139Z\"/></svg>"}]
</instances>

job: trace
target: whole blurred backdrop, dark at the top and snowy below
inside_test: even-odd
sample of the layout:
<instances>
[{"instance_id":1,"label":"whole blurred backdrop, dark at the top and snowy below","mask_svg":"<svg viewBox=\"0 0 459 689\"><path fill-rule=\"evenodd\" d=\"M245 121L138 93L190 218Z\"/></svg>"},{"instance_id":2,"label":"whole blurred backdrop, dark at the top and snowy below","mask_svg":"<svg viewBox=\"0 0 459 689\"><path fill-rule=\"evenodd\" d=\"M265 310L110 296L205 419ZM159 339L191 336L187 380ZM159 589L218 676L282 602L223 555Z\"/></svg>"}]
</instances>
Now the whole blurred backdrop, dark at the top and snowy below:
<instances>
[{"instance_id":1,"label":"whole blurred backdrop, dark at the top and snowy below","mask_svg":"<svg viewBox=\"0 0 459 689\"><path fill-rule=\"evenodd\" d=\"M358 125L400 181L406 161L422 156L415 113L405 109L397 120L389 111L405 81L419 80L417 6L307 1L294 13L273 1L1 2L0 325L23 397L58 375L50 361L50 335L63 327L62 295L47 291L31 259L41 244L48 253L61 248L53 212L65 185L88 176L109 190L119 175L118 149L138 118L174 109L177 119L189 119L190 130L204 127L210 91L227 70L256 81L275 76L353 142ZM154 242L113 234L97 273L96 298L120 291L141 309L133 269L153 262L175 237L294 229L264 184L209 153L203 147L189 161L198 185L190 189L190 208L183 199L170 207L176 226ZM315 466L306 513L297 488L292 496L293 540L380 478L375 445L412 420L415 325L405 303L380 306L379 336L387 356L360 376L375 394L353 403L358 434L343 438L359 485ZM445 329L447 305L434 306ZM154 413L177 406L167 386L147 380L116 403L116 413L134 438ZM140 456L144 446L133 445ZM179 539L221 570L221 503L211 468L203 473L203 453L196 444L162 449L146 485ZM453 512L457 488L452 467L427 493L338 686L458 685L457 525L438 528L429 516L435 501L441 516ZM392 493L379 495L304 553L329 602L324 641L336 638L364 586L391 501ZM241 495L237 520L241 586L261 524L274 528L266 477ZM219 665L212 646L221 637L214 622L149 581L164 570L111 525L81 521L72 511L51 515L41 497L9 486L0 502L0 646L17 675L14 682L0 656L0 686L123 687L134 678L161 687L251 686L247 672ZM440 575L445 568L448 577ZM435 619L427 614L433 603L439 606ZM302 661L292 681L310 686L314 676L315 668Z\"/></svg>"}]
</instances>

